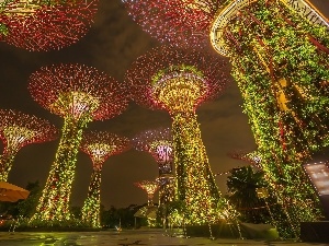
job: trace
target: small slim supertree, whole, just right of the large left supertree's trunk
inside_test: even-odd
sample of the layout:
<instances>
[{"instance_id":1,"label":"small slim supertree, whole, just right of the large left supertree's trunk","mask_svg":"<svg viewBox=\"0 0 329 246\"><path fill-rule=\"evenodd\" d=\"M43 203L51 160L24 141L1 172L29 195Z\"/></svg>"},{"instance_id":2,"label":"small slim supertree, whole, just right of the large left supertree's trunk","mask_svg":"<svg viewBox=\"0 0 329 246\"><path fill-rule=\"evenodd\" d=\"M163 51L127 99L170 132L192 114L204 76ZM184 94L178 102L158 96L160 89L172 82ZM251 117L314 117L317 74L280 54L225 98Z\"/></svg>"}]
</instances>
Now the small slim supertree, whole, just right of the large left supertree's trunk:
<instances>
[{"instance_id":1,"label":"small slim supertree, whole, just right of the large left supertree's trunk","mask_svg":"<svg viewBox=\"0 0 329 246\"><path fill-rule=\"evenodd\" d=\"M88 197L82 207L82 221L92 227L100 227L101 173L105 161L129 149L129 140L107 131L92 131L83 134L80 150L92 161L93 172Z\"/></svg>"}]
</instances>

